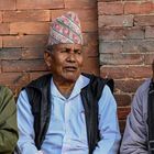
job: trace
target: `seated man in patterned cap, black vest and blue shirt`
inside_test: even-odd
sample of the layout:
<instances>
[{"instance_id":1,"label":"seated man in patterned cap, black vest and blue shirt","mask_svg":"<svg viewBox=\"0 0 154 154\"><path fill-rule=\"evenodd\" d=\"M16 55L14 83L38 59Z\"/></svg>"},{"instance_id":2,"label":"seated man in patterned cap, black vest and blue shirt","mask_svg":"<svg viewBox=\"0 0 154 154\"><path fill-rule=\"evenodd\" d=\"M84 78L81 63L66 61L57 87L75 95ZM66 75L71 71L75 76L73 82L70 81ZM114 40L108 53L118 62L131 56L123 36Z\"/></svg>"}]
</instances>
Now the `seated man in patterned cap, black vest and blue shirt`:
<instances>
[{"instance_id":1,"label":"seated man in patterned cap, black vest and blue shirt","mask_svg":"<svg viewBox=\"0 0 154 154\"><path fill-rule=\"evenodd\" d=\"M117 154L116 100L101 78L81 74L82 35L76 13L52 22L44 58L52 74L32 81L18 99L21 153Z\"/></svg>"}]
</instances>

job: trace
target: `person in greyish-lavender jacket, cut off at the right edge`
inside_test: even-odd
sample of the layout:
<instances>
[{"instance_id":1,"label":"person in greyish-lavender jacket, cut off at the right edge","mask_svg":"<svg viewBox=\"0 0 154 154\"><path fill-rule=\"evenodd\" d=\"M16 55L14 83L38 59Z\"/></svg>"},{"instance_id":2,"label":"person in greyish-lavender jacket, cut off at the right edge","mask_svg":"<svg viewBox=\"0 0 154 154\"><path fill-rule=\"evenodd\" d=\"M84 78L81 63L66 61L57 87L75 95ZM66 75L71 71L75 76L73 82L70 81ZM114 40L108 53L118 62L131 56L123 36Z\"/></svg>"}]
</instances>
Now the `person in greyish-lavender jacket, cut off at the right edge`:
<instances>
[{"instance_id":1,"label":"person in greyish-lavender jacket, cut off at the right edge","mask_svg":"<svg viewBox=\"0 0 154 154\"><path fill-rule=\"evenodd\" d=\"M154 61L153 77L136 90L121 144L121 154L154 154Z\"/></svg>"}]
</instances>

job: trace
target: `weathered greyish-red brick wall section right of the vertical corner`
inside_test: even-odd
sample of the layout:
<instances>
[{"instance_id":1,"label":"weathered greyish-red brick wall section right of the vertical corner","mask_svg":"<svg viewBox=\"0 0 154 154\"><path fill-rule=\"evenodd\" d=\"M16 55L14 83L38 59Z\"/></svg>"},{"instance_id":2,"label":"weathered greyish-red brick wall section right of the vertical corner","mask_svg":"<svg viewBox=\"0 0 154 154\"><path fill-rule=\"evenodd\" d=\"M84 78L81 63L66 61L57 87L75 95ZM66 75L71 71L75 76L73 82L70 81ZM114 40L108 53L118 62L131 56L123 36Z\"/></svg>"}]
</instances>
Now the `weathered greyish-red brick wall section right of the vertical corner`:
<instances>
[{"instance_id":1,"label":"weathered greyish-red brick wall section right of the vertical corner","mask_svg":"<svg viewBox=\"0 0 154 154\"><path fill-rule=\"evenodd\" d=\"M100 75L116 80L123 131L134 91L152 76L154 1L98 0Z\"/></svg>"}]
</instances>

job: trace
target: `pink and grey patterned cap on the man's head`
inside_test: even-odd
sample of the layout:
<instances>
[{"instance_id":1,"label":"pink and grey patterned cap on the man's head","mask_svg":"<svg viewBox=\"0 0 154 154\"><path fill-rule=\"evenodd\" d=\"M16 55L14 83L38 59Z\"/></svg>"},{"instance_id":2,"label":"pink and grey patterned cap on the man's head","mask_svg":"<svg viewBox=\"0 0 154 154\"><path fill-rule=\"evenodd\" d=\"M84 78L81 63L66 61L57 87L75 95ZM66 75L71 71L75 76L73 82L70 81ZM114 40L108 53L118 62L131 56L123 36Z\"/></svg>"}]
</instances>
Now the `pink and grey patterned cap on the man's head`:
<instances>
[{"instance_id":1,"label":"pink and grey patterned cap on the man's head","mask_svg":"<svg viewBox=\"0 0 154 154\"><path fill-rule=\"evenodd\" d=\"M82 44L80 21L76 13L67 12L51 23L47 45L59 43Z\"/></svg>"}]
</instances>

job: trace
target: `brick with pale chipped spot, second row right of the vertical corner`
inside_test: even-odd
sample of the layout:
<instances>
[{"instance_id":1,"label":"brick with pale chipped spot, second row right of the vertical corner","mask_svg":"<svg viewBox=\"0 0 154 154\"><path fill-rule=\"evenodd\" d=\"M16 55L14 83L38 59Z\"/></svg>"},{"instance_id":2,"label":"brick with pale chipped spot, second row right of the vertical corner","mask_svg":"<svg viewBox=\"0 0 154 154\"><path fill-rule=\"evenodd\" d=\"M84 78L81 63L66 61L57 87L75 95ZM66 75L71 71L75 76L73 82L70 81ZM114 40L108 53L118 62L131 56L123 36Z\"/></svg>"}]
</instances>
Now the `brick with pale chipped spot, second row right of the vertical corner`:
<instances>
[{"instance_id":1,"label":"brick with pale chipped spot, second row right of the vertical corner","mask_svg":"<svg viewBox=\"0 0 154 154\"><path fill-rule=\"evenodd\" d=\"M99 15L99 28L133 26L133 15Z\"/></svg>"}]
</instances>

